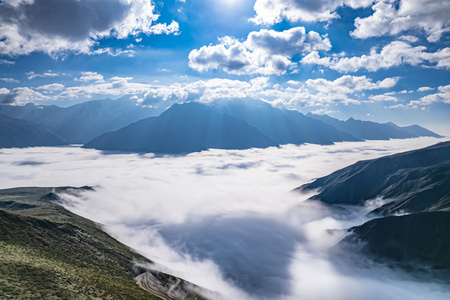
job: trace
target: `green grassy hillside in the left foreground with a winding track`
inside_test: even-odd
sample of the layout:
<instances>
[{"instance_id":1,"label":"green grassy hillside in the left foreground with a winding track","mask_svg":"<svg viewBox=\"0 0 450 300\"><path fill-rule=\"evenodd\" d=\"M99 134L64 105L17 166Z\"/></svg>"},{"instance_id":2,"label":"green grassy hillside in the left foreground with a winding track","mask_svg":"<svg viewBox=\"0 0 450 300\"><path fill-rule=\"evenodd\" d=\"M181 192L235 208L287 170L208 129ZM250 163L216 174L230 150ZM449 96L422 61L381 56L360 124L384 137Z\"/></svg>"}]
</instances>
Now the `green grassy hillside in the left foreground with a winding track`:
<instances>
[{"instance_id":1,"label":"green grassy hillside in the left foreground with a winding track","mask_svg":"<svg viewBox=\"0 0 450 300\"><path fill-rule=\"evenodd\" d=\"M0 190L2 299L205 299L208 291L145 267L153 263L58 205L60 194L83 191L93 192Z\"/></svg>"}]
</instances>

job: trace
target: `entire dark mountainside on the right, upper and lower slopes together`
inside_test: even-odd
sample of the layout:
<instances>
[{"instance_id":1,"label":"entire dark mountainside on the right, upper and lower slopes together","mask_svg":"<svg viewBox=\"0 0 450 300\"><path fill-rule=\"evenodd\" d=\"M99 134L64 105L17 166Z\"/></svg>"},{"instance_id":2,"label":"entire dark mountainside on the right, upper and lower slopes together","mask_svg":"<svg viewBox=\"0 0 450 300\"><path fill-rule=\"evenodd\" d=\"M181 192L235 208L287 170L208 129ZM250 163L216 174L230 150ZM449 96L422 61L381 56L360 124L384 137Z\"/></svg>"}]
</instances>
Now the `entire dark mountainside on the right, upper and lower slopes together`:
<instances>
[{"instance_id":1,"label":"entire dark mountainside on the right, upper and lower slopes together","mask_svg":"<svg viewBox=\"0 0 450 300\"><path fill-rule=\"evenodd\" d=\"M329 205L381 203L336 252L450 275L450 142L360 161L296 190L317 190L308 201Z\"/></svg>"}]
</instances>

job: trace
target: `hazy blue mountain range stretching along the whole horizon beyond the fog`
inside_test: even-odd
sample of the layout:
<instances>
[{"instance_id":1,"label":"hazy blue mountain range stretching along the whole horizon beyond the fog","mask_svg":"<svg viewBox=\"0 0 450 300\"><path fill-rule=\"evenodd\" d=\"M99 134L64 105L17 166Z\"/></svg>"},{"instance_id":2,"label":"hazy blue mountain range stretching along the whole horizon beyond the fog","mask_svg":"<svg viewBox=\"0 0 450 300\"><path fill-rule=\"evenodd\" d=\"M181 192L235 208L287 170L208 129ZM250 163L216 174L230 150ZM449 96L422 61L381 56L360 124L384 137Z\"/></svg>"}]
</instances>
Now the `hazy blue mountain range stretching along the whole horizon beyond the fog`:
<instances>
[{"instance_id":1,"label":"hazy blue mountain range stretching along the whole horizon beyond the fog","mask_svg":"<svg viewBox=\"0 0 450 300\"><path fill-rule=\"evenodd\" d=\"M329 116L305 116L254 99L175 104L164 112L142 107L129 98L95 100L65 108L0 105L0 114L33 123L36 129L55 135L59 144L84 144L85 148L130 152L189 153L208 148L247 149L284 144L329 145L365 139L440 137L418 125L399 127L394 123L354 119L344 122ZM21 131L12 125L1 126L5 128L3 131L10 131L2 137L3 144L8 147L55 145L51 141L32 142L29 137L37 135L36 131L19 133ZM21 128L23 131L24 126ZM19 139L22 142L19 143ZM28 140L30 143L27 144Z\"/></svg>"}]
</instances>

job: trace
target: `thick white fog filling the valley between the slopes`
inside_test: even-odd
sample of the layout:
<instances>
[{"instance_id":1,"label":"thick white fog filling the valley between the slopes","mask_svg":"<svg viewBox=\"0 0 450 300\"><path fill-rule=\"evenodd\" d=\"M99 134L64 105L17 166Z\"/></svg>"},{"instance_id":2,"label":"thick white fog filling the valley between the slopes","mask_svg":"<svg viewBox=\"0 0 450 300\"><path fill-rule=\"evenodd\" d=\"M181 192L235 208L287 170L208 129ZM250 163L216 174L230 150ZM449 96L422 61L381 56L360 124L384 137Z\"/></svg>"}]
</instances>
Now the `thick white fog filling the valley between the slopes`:
<instances>
[{"instance_id":1,"label":"thick white fog filling the valley between the slopes","mask_svg":"<svg viewBox=\"0 0 450 300\"><path fill-rule=\"evenodd\" d=\"M383 266L343 266L329 249L373 207L303 202L292 189L358 160L439 139L209 150L184 156L78 147L0 149L0 188L83 186L65 207L99 222L153 267L224 299L448 299ZM377 205L374 199L370 205ZM364 260L364 257L360 258Z\"/></svg>"}]
</instances>

